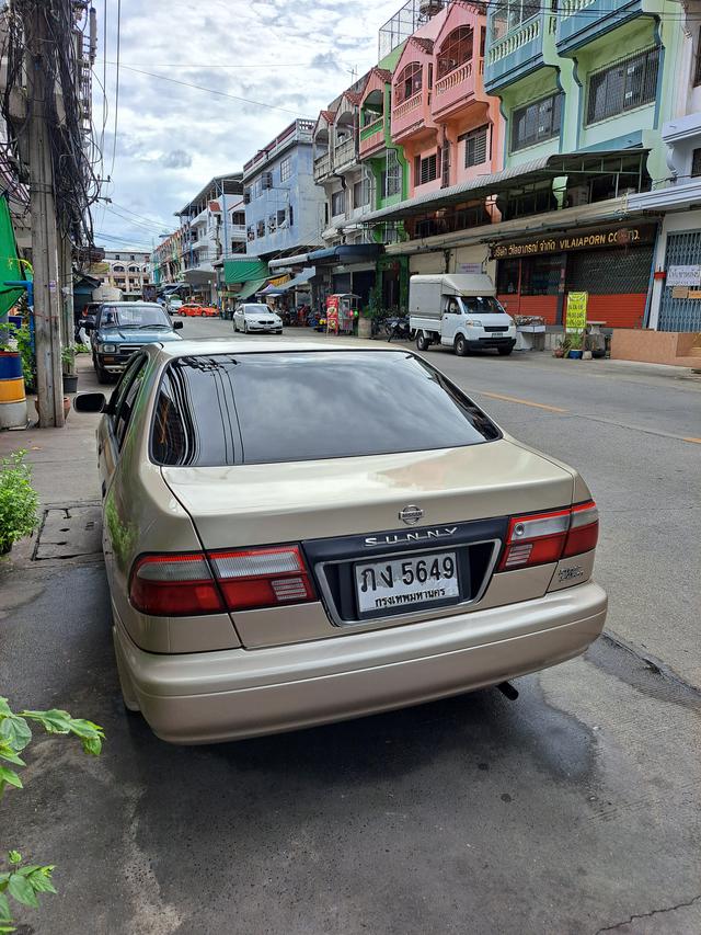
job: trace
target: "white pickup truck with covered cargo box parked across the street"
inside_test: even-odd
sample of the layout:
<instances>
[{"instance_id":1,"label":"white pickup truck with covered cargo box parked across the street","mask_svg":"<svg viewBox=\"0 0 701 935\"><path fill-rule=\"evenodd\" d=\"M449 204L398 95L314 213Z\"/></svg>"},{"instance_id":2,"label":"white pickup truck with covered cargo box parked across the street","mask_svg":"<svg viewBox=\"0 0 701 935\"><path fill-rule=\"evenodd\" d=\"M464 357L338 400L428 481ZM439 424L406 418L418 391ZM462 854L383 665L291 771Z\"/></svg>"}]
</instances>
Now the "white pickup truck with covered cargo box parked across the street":
<instances>
[{"instance_id":1,"label":"white pickup truck with covered cargo box parked across the street","mask_svg":"<svg viewBox=\"0 0 701 935\"><path fill-rule=\"evenodd\" d=\"M484 273L412 276L409 316L420 351L444 344L461 357L490 347L506 355L516 344L514 319L498 303L492 280Z\"/></svg>"}]
</instances>

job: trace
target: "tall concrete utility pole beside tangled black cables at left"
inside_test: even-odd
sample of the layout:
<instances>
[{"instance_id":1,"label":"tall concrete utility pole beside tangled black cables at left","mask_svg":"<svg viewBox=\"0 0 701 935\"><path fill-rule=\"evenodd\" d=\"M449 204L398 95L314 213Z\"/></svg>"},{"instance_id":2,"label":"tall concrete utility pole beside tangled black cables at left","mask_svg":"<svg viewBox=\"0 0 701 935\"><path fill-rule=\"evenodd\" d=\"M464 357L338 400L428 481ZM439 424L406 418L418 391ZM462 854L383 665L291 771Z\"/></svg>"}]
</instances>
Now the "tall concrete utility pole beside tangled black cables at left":
<instances>
[{"instance_id":1,"label":"tall concrete utility pole beside tangled black cables at left","mask_svg":"<svg viewBox=\"0 0 701 935\"><path fill-rule=\"evenodd\" d=\"M64 424L61 377L61 294L59 290L58 235L50 139L47 126L46 49L50 48L44 4L26 8L27 90L30 107L30 198L32 214L32 265L34 266L34 328L39 426Z\"/></svg>"}]
</instances>

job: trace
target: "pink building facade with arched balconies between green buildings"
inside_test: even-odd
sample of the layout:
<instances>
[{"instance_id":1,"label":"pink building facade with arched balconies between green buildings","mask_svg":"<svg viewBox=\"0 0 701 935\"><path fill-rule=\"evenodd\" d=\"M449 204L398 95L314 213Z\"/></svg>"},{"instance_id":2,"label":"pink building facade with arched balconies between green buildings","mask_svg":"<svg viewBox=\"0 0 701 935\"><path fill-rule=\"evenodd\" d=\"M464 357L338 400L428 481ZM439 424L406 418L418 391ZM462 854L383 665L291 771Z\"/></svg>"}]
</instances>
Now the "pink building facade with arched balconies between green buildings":
<instances>
[{"instance_id":1,"label":"pink building facade with arched balconies between green buildings","mask_svg":"<svg viewBox=\"0 0 701 935\"><path fill-rule=\"evenodd\" d=\"M441 10L407 39L394 69L392 139L409 162L410 197L503 168L498 99L484 92L482 10Z\"/></svg>"}]
</instances>

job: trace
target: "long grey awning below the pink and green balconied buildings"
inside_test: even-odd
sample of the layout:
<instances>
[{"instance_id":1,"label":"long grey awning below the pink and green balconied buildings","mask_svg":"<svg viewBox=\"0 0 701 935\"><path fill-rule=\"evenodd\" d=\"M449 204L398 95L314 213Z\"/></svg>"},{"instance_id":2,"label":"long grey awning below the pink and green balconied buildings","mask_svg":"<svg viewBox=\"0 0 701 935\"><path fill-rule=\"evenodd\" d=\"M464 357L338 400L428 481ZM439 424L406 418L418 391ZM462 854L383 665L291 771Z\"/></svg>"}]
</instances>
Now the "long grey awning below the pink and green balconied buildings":
<instances>
[{"instance_id":1,"label":"long grey awning below the pink and green balconied buildings","mask_svg":"<svg viewBox=\"0 0 701 935\"><path fill-rule=\"evenodd\" d=\"M380 224L390 220L402 220L414 215L438 210L461 202L487 197L508 189L535 182L547 182L563 175L613 175L622 176L621 190L632 186L640 189L646 174L645 160L648 149L614 149L591 152L568 152L558 156L542 156L521 166L513 166L501 172L478 175L459 185L416 195L391 207L370 212L358 218L363 224ZM628 181L628 184L625 182Z\"/></svg>"}]
</instances>

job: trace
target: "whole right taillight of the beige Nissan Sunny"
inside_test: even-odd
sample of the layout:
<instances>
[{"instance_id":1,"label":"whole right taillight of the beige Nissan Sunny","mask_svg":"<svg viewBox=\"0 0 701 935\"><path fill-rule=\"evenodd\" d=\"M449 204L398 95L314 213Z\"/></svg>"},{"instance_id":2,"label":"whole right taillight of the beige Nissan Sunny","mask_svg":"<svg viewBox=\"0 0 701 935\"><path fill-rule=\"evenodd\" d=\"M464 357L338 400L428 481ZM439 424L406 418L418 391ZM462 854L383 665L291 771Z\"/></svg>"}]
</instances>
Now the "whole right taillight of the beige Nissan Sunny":
<instances>
[{"instance_id":1,"label":"whole right taillight of the beige Nissan Sunny","mask_svg":"<svg viewBox=\"0 0 701 935\"><path fill-rule=\"evenodd\" d=\"M547 565L596 547L599 514L593 500L568 510L513 516L499 571Z\"/></svg>"}]
</instances>

